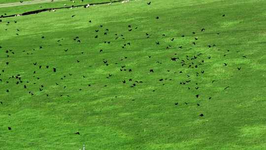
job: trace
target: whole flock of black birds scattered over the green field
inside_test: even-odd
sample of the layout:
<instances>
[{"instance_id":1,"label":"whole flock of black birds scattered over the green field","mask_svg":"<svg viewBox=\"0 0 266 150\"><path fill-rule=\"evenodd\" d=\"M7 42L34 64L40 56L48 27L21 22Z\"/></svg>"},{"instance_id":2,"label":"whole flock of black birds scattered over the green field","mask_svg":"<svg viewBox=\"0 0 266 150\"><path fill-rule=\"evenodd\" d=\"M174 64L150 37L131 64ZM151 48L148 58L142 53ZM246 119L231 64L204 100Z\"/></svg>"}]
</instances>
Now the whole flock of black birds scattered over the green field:
<instances>
[{"instance_id":1,"label":"whole flock of black birds scattered over the green field","mask_svg":"<svg viewBox=\"0 0 266 150\"><path fill-rule=\"evenodd\" d=\"M23 2L23 1L21 1L21 2ZM151 1L150 2L148 2L147 3L148 5L151 5L152 3L151 3ZM72 15L71 16L71 18L73 18L75 15ZM225 15L222 15L222 17L225 17ZM160 19L159 18L159 16L157 16L157 17L155 17L155 19ZM2 20L0 20L0 23L2 22ZM17 23L17 21L16 20L14 20L13 21L14 23ZM92 20L89 20L88 21L89 23L92 23ZM11 22L6 22L6 26L9 26L11 24ZM100 29L96 29L95 30L95 33L97 33L97 35L94 37L94 38L100 38L101 36L100 36L100 30L103 28L103 25L100 25ZM128 29L127 29L127 31L126 32L133 32L133 31L136 31L138 28L137 27L133 27L132 25L128 25ZM5 31L7 31L7 29L5 29ZM103 33L103 35L102 36L107 36L107 35L109 35L109 34L111 34L110 32L109 32L109 29L103 29L103 30L101 30L101 31L104 31L104 33ZM17 29L17 32L20 32L20 30L19 29ZM202 28L202 29L200 29L199 30L199 32L205 32L205 29L204 28ZM16 35L17 36L19 36L19 34L18 33L16 33ZM192 35L196 35L196 32L192 32ZM217 35L220 35L220 33L217 33ZM118 35L118 34L114 34L114 36L115 36L115 38L114 38L114 41L116 41L116 40L122 40L122 41L124 41L125 40L125 36L123 35L123 34L121 34L121 35ZM149 33L146 33L145 34L145 36L146 36L146 38L150 38L150 34ZM163 37L166 37L166 34L163 34L162 35ZM184 38L185 36L184 35L181 35L181 38ZM41 39L43 39L43 40L45 40L45 37L44 36L42 36L42 37L40 37ZM194 36L193 37L193 39L194 39L194 41L191 43L192 44L192 46L194 45L197 45L197 41L198 40L200 40L197 36ZM61 40L63 40L63 38L61 38L60 40L57 40L57 42L60 42ZM74 41L76 41L77 42L77 44L78 43L82 43L82 40L77 36L77 37L75 37L75 38L73 38L73 40ZM173 42L174 40L176 40L176 38L170 38L170 40L169 40L169 42ZM105 43L105 44L110 44L111 42L114 42L114 41L103 41L103 43ZM161 46L162 44L162 41L159 41L159 40L155 40L154 41L154 44L156 45L156 46ZM123 45L121 45L121 48L122 49L125 49L126 47L130 47L131 46L131 42L126 42L126 43L124 43ZM59 45L62 45L62 44L59 44ZM184 45L177 45L177 47L179 48L179 49L184 49ZM176 48L177 48L176 47ZM212 47L216 47L216 44L209 44L209 45L206 45L206 47L208 47L208 48L212 48ZM160 47L161 48L161 47ZM187 48L187 47L186 47ZM193 47L194 48L194 47ZM193 50L193 48L189 48L189 50ZM3 52L3 49L7 49L6 47L1 47L0 46L0 52ZM39 46L39 50L40 49L42 49L42 45L40 45ZM175 46L174 45L170 45L170 44L168 44L167 46L166 46L166 50L169 50L169 49L175 49ZM33 49L33 51L35 51L35 50L37 50L37 49ZM220 50L220 49L218 49L218 50ZM229 51L229 50L228 50ZM23 52L26 52L25 50L23 51ZM68 52L68 48L67 49L64 49L64 52ZM104 52L104 50L101 48L100 49L100 53L103 53ZM6 55L6 57L12 57L13 55L15 55L15 52L13 51L13 50L11 50L11 49L9 49L9 50L5 50L5 53L7 54ZM27 53L27 55L32 55L33 53ZM82 54L83 54L83 52L82 52ZM195 70L195 72L194 72L194 76L196 76L196 77L198 77L199 79L200 79L200 75L204 75L205 74L205 71L204 70L199 70L200 69L200 67L201 66L203 66L204 65L204 58L202 58L202 53L198 53L198 54L195 54L195 55L192 55L192 56L188 56L188 55L186 55L185 56L185 58L181 58L181 57L177 57L176 55L176 53L174 54L175 55L175 57L171 57L171 58L168 58L169 59L169 61L172 61L172 62L179 62L180 63L180 66L181 67L183 67L183 68L190 68L190 69L192 69L192 70ZM224 55L224 56L226 56L226 55ZM242 56L243 58L247 58L246 56ZM147 58L148 59L151 59L152 58L152 55L148 55L147 56ZM207 56L206 57L207 59L211 59L211 56ZM123 56L123 59L128 59L128 56ZM123 60L123 59L121 59L121 61ZM80 60L76 60L76 63L79 63L80 62ZM108 60L107 59L103 59L102 60L102 62L103 62L103 64L104 65L106 65L106 66L108 66L109 65L109 62L108 62ZM24 80L23 79L23 75L19 75L19 74L16 74L16 75L11 75L11 76L6 76L7 77L7 79L5 80L5 79L3 79L4 78L4 76L5 76L5 71L6 70L8 70L8 65L9 65L9 63L10 62L5 62L5 66L1 66L1 67L4 67L5 68L5 70L1 70L1 73L0 73L0 85L3 85L3 83L4 82L6 82L6 84L8 84L9 83L9 80L10 79L15 79L16 80L16 84L18 85L18 84L22 84L22 87L23 88L25 88L25 89L27 89L28 88L28 86L30 86L30 84L32 83L31 81L29 81L29 80ZM156 63L158 63L158 64L162 64L162 62L160 62L160 61L157 61ZM118 64L118 63L115 63L115 64ZM224 64L224 67L226 67L226 66L228 66L229 64L228 63L223 63ZM57 73L57 68L56 67L51 67L51 66L49 66L49 65L41 65L41 64L39 64L38 62L32 62L32 67L35 67L35 71L32 73L33 74L33 77L35 77L36 79L39 79L39 77L36 77L35 76L35 74L36 74L36 72L37 72L37 70L42 70L42 69L46 69L46 70L50 70L51 72L53 72L54 74L56 74ZM239 71L241 69L241 67L237 67L237 70ZM128 72L133 72L134 70L132 69L132 68L126 68L126 65L123 65L123 66L121 66L121 68L119 68L119 70L122 72L122 71L128 71ZM149 73L149 74L154 74L155 73L155 69L149 69L147 72ZM170 72L170 70L167 70L166 71L167 73L169 73ZM182 75L183 74L183 72L182 71L179 71L179 72L174 72L173 74L180 74L180 75ZM71 76L72 74L70 74L70 73L68 73L68 75L69 76ZM191 84L191 82L192 82L192 79L190 78L191 76L193 76L192 74L190 74L190 75L186 75L186 77L187 77L187 79L186 80L181 80L181 81L179 81L179 85L181 85L181 86L184 86L184 85L189 85L189 87L186 87L188 90L192 90L192 88L193 88L193 86L194 85L190 85ZM82 75L82 77L83 78L86 78L87 76L86 75ZM111 77L112 77L112 74L108 74L107 76L106 76L106 78L107 79L111 79ZM61 85L61 83L63 84L63 80L64 80L64 78L66 78L66 75L64 75L63 77L61 77L60 79L59 79L59 81L58 82L60 82L60 84L58 83L58 82L55 82L55 85ZM5 81L4 81L5 80ZM171 81L172 79L167 79L167 78L160 78L159 79L159 82L164 82L164 81L166 81L166 80L169 80L169 81ZM214 80L212 80L212 83L214 83L214 81L215 81L215 79ZM137 87L137 84L142 84L143 82L145 82L145 81L138 81L138 80L135 80L135 81L133 81L133 79L132 78L130 78L129 79L129 82L131 82L132 84L129 86L129 87L131 87L131 88L134 88L134 87ZM127 80L126 79L122 79L121 80L121 83L122 84L126 84L127 83ZM34 82L33 84L36 84L36 82ZM175 83L176 84L176 83ZM163 83L163 85L165 85L165 83ZM91 84L88 84L88 86L92 86ZM104 86L107 86L107 85L104 85ZM63 89L65 89L66 88L66 85L64 85L64 87L63 87ZM198 90L199 88L200 88L200 85L199 85L199 83L197 83L197 82L195 82L195 90ZM230 88L230 86L227 86L227 87L225 87L224 88L224 90L226 90L226 89L228 89L228 88ZM2 88L0 88L1 90L2 90ZM43 89L45 89L45 86L44 85L40 85L39 86L39 88L36 90L36 91L43 91ZM10 89L6 89L5 90L5 92L9 92L9 90ZM82 89L79 89L79 90L82 90ZM155 92L155 90L152 90L153 92ZM34 91L28 91L28 94L30 94L30 95L34 95ZM49 97L49 94L48 93L46 93L46 96L47 97ZM64 96L64 95L60 95L61 97L62 96ZM68 95L66 95L67 97L70 97L70 94L68 94ZM199 99L199 97L201 96L201 94L200 93L198 93L198 94L196 94L195 95L195 98L196 99ZM117 97L117 96L116 96ZM209 96L209 98L208 98L209 100L211 99L211 96ZM134 101L134 100L133 100ZM68 101L69 102L69 101ZM0 104L2 105L2 106L4 106L4 103L3 102L0 102ZM176 103L174 103L174 105L177 107L177 106L179 106L180 105L180 102L176 102ZM189 105L189 103L188 102L185 102L185 105ZM198 103L197 104L197 106L200 106L200 104ZM9 114L9 115L11 115L11 114ZM199 114L199 116L200 117L203 117L204 116L204 114L203 113L200 113ZM11 130L11 127L8 127L8 130ZM78 134L78 135L80 135L80 133L79 132L76 132L75 134Z\"/></svg>"}]
</instances>

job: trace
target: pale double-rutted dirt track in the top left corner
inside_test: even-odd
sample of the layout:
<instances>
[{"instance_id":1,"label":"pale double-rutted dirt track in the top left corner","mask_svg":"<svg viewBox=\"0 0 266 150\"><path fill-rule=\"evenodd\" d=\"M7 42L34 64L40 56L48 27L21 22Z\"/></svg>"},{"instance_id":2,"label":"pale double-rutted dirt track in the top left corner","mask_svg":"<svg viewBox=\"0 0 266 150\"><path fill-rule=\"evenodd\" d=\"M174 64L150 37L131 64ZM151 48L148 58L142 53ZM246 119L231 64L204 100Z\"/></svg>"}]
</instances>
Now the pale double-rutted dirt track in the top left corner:
<instances>
[{"instance_id":1,"label":"pale double-rutted dirt track in the top left corner","mask_svg":"<svg viewBox=\"0 0 266 150\"><path fill-rule=\"evenodd\" d=\"M66 1L66 0L31 0L31 1L24 1L24 2L3 3L3 4L0 4L0 8L38 4L38 3L46 3L46 2L55 2L55 1Z\"/></svg>"}]
</instances>

